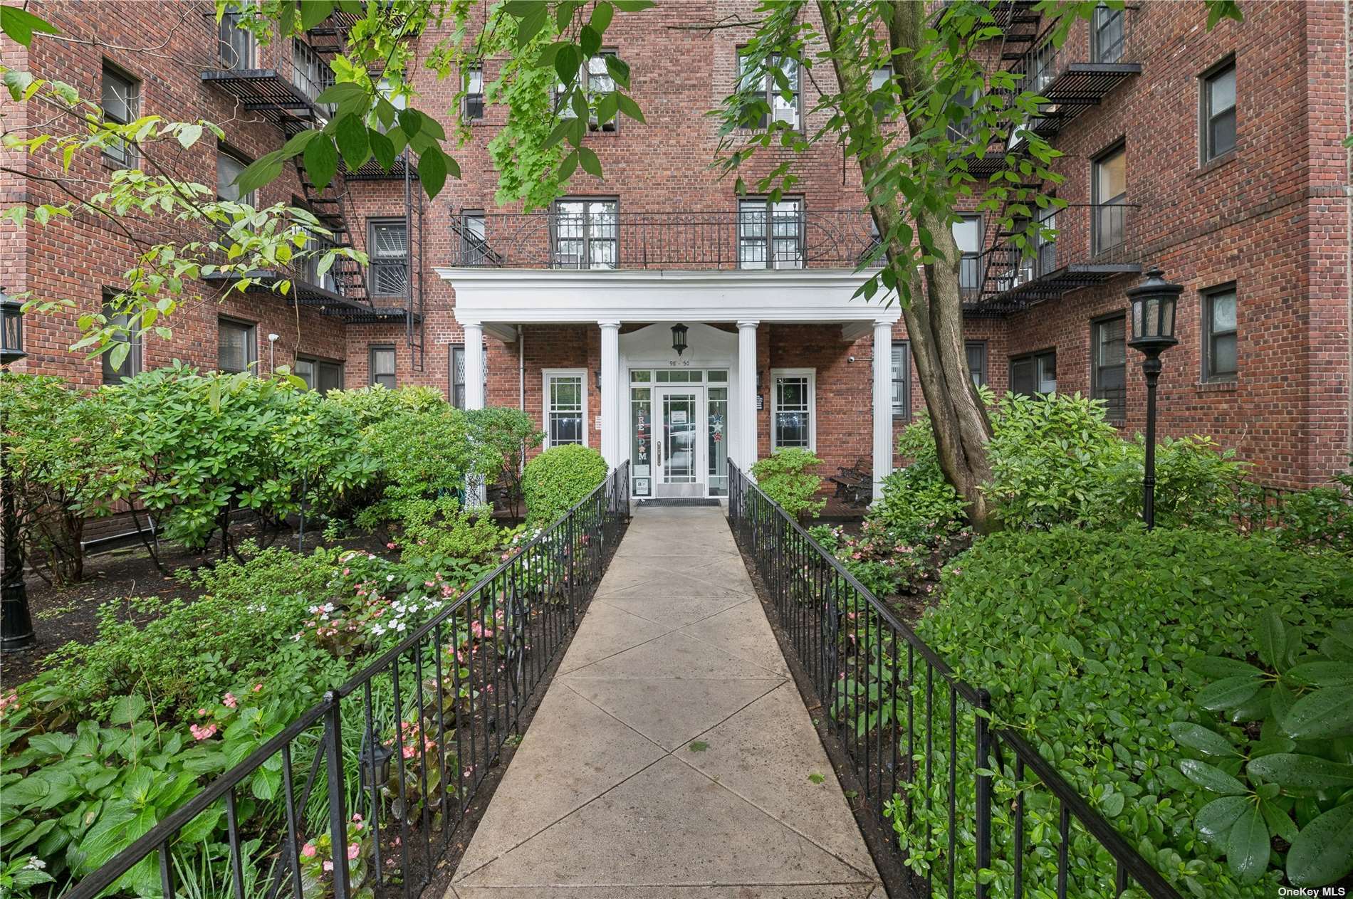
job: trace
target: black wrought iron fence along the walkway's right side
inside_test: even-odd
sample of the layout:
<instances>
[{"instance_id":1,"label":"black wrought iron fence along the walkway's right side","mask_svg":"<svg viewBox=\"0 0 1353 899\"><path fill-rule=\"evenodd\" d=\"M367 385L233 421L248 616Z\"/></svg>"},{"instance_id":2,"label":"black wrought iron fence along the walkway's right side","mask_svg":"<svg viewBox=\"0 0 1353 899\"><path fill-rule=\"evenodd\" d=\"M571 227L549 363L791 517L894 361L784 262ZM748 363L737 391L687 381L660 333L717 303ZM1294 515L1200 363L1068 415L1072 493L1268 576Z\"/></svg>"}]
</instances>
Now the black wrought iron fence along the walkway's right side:
<instances>
[{"instance_id":1,"label":"black wrought iron fence along the walkway's right side","mask_svg":"<svg viewBox=\"0 0 1353 899\"><path fill-rule=\"evenodd\" d=\"M728 516L885 831L931 896L1178 894L735 465Z\"/></svg>"}]
</instances>

